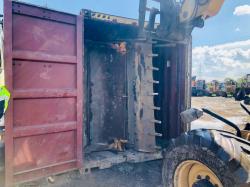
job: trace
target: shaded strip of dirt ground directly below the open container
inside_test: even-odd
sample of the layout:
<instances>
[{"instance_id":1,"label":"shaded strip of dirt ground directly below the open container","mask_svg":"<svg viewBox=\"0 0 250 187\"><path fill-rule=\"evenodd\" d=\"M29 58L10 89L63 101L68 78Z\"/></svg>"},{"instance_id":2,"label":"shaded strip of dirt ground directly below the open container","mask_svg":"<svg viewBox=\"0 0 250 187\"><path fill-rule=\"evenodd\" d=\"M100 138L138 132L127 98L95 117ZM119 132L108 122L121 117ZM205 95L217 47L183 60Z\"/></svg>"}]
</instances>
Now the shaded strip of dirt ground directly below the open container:
<instances>
[{"instance_id":1,"label":"shaded strip of dirt ground directly below the open container","mask_svg":"<svg viewBox=\"0 0 250 187\"><path fill-rule=\"evenodd\" d=\"M120 164L84 175L70 172L54 179L54 183L41 180L22 187L162 187L161 161Z\"/></svg>"}]
</instances>

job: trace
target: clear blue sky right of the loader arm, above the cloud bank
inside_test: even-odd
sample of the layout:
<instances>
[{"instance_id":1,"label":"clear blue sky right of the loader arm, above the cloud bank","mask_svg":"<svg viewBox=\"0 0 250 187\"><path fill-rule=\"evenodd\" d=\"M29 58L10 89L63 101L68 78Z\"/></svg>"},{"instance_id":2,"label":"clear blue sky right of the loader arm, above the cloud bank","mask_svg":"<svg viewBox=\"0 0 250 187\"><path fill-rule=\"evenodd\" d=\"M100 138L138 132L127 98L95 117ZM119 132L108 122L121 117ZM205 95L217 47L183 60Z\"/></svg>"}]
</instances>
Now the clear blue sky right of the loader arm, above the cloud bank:
<instances>
[{"instance_id":1,"label":"clear blue sky right of the loader arm, above the cloud bank","mask_svg":"<svg viewBox=\"0 0 250 187\"><path fill-rule=\"evenodd\" d=\"M250 5L249 0L225 0L219 14L207 20L203 29L193 32L194 46L216 45L250 39L250 14L233 14L238 6ZM237 29L238 28L238 29Z\"/></svg>"}]
</instances>

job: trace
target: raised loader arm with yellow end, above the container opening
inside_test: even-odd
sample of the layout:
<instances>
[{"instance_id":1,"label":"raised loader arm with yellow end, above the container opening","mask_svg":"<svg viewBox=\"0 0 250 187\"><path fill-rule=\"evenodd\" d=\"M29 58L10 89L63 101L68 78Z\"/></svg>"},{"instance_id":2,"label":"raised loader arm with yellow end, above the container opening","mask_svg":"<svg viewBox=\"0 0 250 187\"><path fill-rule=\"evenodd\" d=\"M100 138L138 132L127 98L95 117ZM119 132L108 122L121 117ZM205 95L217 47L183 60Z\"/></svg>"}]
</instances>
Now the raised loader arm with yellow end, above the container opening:
<instances>
[{"instance_id":1,"label":"raised loader arm with yellow end, above the container opening","mask_svg":"<svg viewBox=\"0 0 250 187\"><path fill-rule=\"evenodd\" d=\"M139 37L151 36L160 40L183 41L190 37L195 27L202 28L207 18L215 16L224 0L154 0L160 3L160 9L148 8L147 0L140 0ZM145 27L146 12L149 22ZM160 24L154 27L156 15L160 15ZM145 31L145 32L144 32Z\"/></svg>"}]
</instances>

